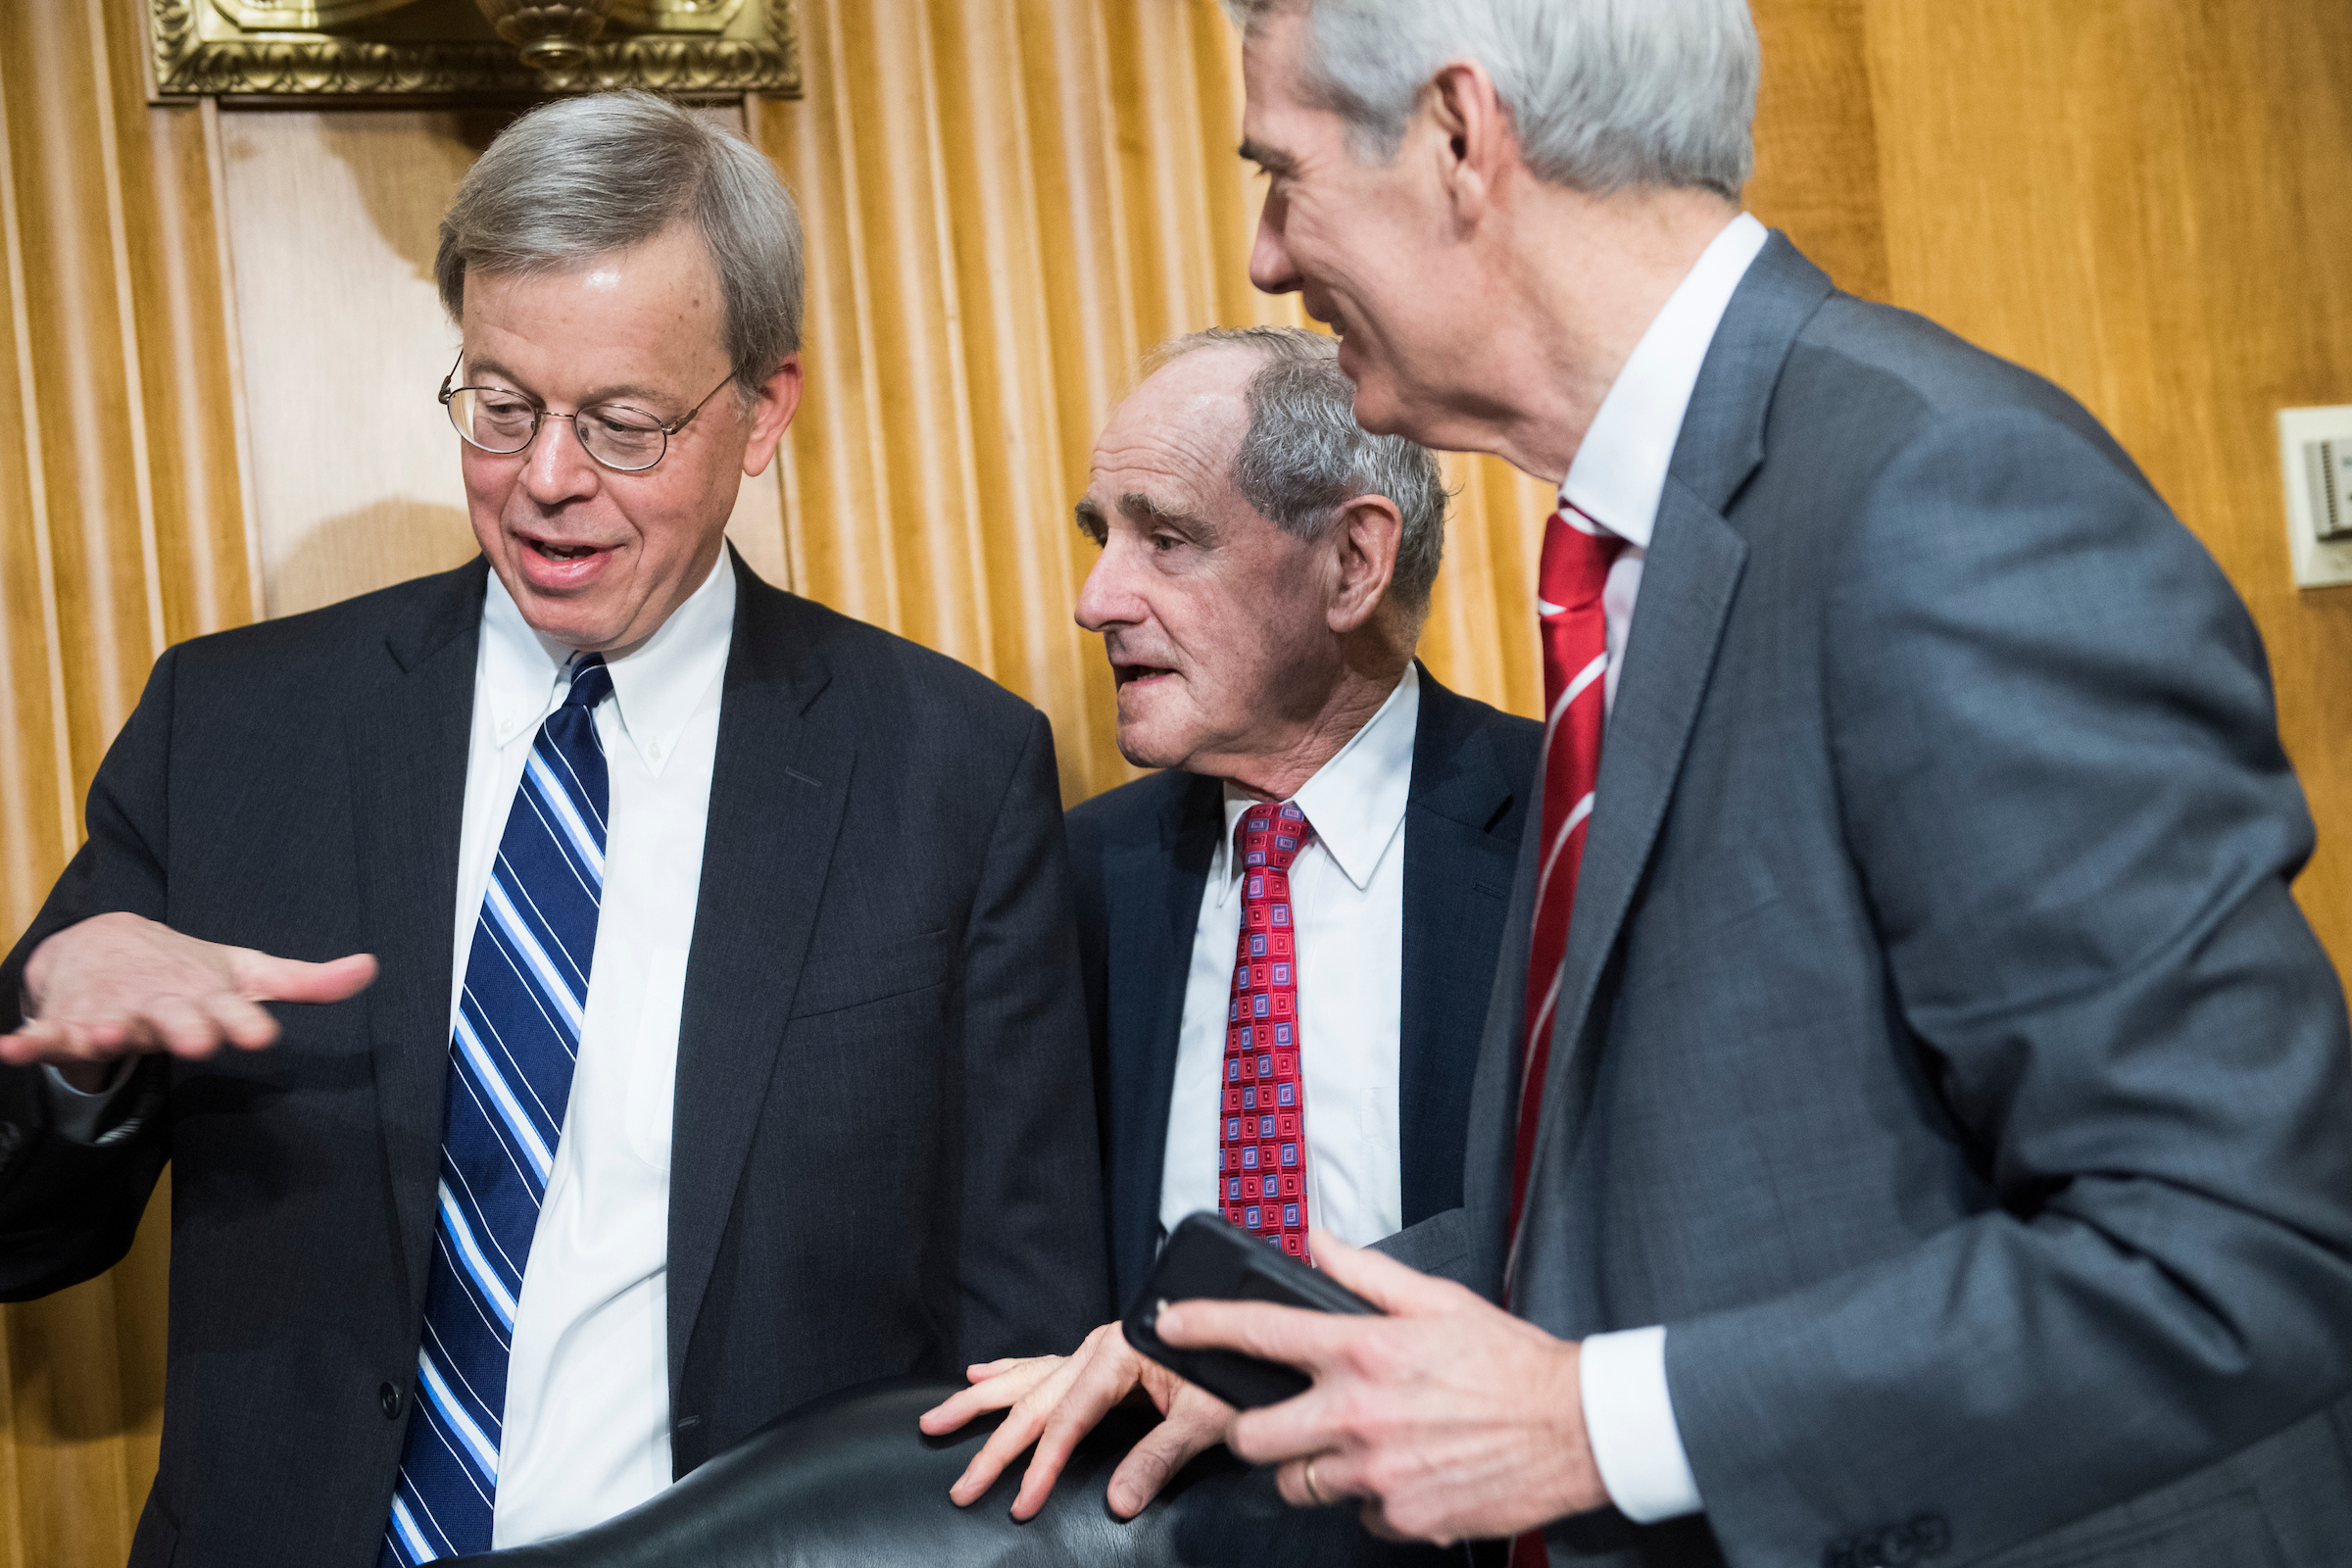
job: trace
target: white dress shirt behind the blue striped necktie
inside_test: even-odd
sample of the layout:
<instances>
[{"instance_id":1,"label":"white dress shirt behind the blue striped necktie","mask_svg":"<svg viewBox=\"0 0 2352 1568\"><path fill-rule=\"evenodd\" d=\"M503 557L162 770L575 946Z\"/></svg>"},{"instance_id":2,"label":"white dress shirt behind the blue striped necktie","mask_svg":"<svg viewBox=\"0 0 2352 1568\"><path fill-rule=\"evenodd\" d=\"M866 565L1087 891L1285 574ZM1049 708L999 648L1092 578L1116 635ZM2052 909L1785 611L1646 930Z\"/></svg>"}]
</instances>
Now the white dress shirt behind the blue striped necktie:
<instances>
[{"instance_id":1,"label":"white dress shirt behind the blue striped necktie","mask_svg":"<svg viewBox=\"0 0 2352 1568\"><path fill-rule=\"evenodd\" d=\"M722 550L644 646L607 663L612 696L595 710L612 780L604 898L572 1103L515 1307L496 1547L602 1523L670 1483L670 1100L734 609ZM541 719L564 701L569 658L522 621L492 574L459 839L452 1027L506 811Z\"/></svg>"}]
</instances>

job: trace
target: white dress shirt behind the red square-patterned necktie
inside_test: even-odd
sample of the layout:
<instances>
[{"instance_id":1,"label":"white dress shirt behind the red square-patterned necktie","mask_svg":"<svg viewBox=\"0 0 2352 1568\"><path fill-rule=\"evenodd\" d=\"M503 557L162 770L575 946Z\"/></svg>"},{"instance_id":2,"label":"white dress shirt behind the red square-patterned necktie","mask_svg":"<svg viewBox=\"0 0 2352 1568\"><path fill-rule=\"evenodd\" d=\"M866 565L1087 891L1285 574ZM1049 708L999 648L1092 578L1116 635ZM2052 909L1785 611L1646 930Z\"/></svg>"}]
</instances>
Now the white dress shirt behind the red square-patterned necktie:
<instances>
[{"instance_id":1,"label":"white dress shirt behind the red square-patterned necktie","mask_svg":"<svg viewBox=\"0 0 2352 1568\"><path fill-rule=\"evenodd\" d=\"M1404 1227L1397 1032L1404 804L1414 788L1418 726L1421 677L1406 665L1381 710L1291 797L1315 827L1315 839L1291 863L1308 1220L1355 1246ZM1162 1234L1197 1208L1223 1208L1216 1192L1218 1105L1232 952L1242 936L1242 863L1232 853L1232 827L1254 804L1225 785L1225 837L1200 896L1176 1032L1176 1084L1160 1175Z\"/></svg>"}]
</instances>

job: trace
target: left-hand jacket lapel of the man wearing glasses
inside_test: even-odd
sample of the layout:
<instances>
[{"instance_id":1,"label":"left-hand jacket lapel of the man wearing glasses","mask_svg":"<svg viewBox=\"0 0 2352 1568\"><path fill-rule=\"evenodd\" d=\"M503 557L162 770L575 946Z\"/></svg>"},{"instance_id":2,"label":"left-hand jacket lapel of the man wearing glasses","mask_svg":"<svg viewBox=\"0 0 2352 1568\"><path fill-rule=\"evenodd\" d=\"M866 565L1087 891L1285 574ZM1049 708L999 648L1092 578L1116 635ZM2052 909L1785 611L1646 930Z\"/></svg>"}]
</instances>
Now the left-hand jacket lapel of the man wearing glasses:
<instances>
[{"instance_id":1,"label":"left-hand jacket lapel of the man wearing glasses","mask_svg":"<svg viewBox=\"0 0 2352 1568\"><path fill-rule=\"evenodd\" d=\"M466 818L475 654L489 567L435 578L383 639L383 670L353 710L360 922L381 964L367 990L383 1164L400 1225L402 1288L423 1312L449 1084L449 966Z\"/></svg>"}]
</instances>

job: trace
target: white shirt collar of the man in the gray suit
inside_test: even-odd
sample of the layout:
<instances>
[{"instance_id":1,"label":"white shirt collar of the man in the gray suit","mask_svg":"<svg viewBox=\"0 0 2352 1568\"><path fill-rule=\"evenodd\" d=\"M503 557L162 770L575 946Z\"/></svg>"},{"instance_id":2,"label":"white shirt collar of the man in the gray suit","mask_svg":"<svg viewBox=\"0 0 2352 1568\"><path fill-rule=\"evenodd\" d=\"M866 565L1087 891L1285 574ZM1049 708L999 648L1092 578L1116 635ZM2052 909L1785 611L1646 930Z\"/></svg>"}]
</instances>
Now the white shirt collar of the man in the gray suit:
<instances>
[{"instance_id":1,"label":"white shirt collar of the man in the gray suit","mask_svg":"<svg viewBox=\"0 0 2352 1568\"><path fill-rule=\"evenodd\" d=\"M1698 367L1708 360L1731 294L1766 240L1771 230L1743 212L1700 252L1635 343L1625 369L1609 383L1609 395L1576 449L1576 463L1559 484L1564 503L1637 550L1649 550Z\"/></svg>"}]
</instances>

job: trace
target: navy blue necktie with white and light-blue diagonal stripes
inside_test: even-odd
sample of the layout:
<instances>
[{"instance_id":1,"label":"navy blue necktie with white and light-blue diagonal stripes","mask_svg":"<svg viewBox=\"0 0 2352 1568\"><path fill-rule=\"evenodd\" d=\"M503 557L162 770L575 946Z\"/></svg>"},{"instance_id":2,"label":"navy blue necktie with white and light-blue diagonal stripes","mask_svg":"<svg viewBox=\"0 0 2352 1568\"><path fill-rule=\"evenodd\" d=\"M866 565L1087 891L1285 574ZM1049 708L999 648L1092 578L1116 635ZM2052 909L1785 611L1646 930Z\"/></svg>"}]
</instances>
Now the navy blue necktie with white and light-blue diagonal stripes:
<instances>
[{"instance_id":1,"label":"navy blue necktie with white and light-blue diagonal stripes","mask_svg":"<svg viewBox=\"0 0 2352 1568\"><path fill-rule=\"evenodd\" d=\"M602 654L532 741L449 1037L440 1222L379 1568L489 1552L522 1265L572 1100L604 893Z\"/></svg>"}]
</instances>

